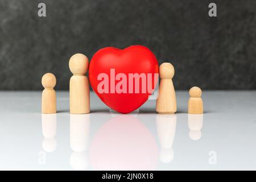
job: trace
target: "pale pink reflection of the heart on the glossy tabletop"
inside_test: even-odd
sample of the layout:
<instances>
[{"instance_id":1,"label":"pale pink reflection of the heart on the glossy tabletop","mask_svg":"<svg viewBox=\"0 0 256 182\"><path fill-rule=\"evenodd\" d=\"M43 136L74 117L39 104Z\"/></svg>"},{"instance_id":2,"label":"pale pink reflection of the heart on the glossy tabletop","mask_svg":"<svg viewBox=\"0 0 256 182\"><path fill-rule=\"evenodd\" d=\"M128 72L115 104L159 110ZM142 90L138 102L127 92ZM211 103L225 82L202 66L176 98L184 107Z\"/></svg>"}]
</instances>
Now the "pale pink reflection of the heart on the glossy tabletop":
<instances>
[{"instance_id":1,"label":"pale pink reflection of the heart on the glossy tabletop","mask_svg":"<svg viewBox=\"0 0 256 182\"><path fill-rule=\"evenodd\" d=\"M152 170L158 163L158 147L146 126L121 114L100 127L89 156L95 170Z\"/></svg>"}]
</instances>

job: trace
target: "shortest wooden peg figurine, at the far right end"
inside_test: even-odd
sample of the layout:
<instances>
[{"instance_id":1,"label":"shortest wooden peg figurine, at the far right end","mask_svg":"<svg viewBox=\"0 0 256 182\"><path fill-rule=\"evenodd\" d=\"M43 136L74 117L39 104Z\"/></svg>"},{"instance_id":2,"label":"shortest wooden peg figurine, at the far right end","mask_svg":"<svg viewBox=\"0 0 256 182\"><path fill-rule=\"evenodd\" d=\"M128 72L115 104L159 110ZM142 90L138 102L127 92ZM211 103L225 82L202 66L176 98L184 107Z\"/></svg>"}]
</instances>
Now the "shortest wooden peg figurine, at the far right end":
<instances>
[{"instance_id":1,"label":"shortest wooden peg figurine, at the far right end","mask_svg":"<svg viewBox=\"0 0 256 182\"><path fill-rule=\"evenodd\" d=\"M202 90L197 87L193 86L189 90L189 100L188 100L188 114L203 114L203 100L201 98Z\"/></svg>"}]
</instances>

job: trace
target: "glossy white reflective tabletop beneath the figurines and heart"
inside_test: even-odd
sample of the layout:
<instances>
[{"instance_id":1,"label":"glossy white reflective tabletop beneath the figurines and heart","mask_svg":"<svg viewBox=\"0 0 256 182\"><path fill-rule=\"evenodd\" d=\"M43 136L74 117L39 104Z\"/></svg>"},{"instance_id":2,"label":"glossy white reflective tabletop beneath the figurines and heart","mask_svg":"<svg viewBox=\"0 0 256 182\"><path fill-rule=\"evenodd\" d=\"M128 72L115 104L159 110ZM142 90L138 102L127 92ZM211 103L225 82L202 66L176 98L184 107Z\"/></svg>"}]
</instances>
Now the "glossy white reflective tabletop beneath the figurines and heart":
<instances>
[{"instance_id":1,"label":"glossy white reflective tabletop beneath the figurines and heart","mask_svg":"<svg viewBox=\"0 0 256 182\"><path fill-rule=\"evenodd\" d=\"M256 169L256 92L204 92L204 114L155 113L149 100L118 114L91 93L92 113L69 114L57 92L57 114L41 114L41 92L0 92L0 169Z\"/></svg>"}]
</instances>

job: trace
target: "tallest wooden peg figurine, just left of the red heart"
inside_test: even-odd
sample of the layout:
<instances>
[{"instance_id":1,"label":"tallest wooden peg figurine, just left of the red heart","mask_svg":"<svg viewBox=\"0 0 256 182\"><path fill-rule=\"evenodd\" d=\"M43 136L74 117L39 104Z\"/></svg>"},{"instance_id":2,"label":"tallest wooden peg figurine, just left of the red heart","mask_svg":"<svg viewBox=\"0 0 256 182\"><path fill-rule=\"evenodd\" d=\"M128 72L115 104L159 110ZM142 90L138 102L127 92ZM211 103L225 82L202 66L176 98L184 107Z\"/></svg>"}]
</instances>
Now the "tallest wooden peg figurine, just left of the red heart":
<instances>
[{"instance_id":1,"label":"tallest wooden peg figurine, just left of the red heart","mask_svg":"<svg viewBox=\"0 0 256 182\"><path fill-rule=\"evenodd\" d=\"M69 59L69 69L73 76L69 82L69 104L71 114L90 113L89 81L85 76L88 70L88 58L76 53Z\"/></svg>"}]
</instances>

